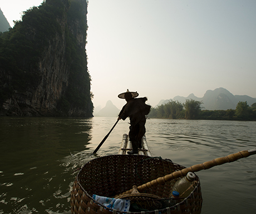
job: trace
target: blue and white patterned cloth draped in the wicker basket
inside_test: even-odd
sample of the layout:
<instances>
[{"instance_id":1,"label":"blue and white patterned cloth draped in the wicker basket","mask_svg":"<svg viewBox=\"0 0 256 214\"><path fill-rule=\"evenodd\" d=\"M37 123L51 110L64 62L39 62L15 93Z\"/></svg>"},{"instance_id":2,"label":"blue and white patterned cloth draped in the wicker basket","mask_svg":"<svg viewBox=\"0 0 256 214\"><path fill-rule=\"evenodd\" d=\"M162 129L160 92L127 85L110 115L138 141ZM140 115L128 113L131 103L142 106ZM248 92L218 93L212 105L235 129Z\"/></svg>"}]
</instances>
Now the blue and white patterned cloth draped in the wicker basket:
<instances>
[{"instance_id":1,"label":"blue and white patterned cloth draped in the wicker basket","mask_svg":"<svg viewBox=\"0 0 256 214\"><path fill-rule=\"evenodd\" d=\"M121 198L108 198L104 196L92 195L92 198L102 205L113 210L128 212L130 208L130 200Z\"/></svg>"}]
</instances>

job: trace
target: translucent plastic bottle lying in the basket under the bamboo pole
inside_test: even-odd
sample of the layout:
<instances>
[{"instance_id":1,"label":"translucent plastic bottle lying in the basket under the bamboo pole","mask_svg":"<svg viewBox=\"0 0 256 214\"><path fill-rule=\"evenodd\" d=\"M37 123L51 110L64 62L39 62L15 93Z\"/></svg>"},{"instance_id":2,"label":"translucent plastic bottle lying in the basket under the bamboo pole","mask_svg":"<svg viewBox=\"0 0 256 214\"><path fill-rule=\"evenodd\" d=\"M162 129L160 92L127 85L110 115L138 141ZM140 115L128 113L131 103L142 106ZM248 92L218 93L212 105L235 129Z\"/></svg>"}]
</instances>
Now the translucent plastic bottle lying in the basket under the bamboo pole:
<instances>
[{"instance_id":1,"label":"translucent plastic bottle lying in the basket under the bamboo pole","mask_svg":"<svg viewBox=\"0 0 256 214\"><path fill-rule=\"evenodd\" d=\"M194 187L192 185L195 177L196 176L193 172L188 172L186 176L176 181L171 191L179 192L181 198L188 197L189 194L194 190Z\"/></svg>"}]
</instances>

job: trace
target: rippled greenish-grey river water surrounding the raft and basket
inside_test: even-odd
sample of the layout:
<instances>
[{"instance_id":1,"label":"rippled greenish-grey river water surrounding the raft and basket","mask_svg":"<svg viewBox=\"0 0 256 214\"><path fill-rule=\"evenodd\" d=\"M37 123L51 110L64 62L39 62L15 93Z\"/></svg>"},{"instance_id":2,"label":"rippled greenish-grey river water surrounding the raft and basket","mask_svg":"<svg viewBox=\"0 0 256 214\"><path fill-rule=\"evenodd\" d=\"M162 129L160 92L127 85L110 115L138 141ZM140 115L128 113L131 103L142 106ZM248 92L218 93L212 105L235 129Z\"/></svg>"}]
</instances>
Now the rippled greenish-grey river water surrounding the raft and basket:
<instances>
[{"instance_id":1,"label":"rippled greenish-grey river water surrounding the raft and basket","mask_svg":"<svg viewBox=\"0 0 256 214\"><path fill-rule=\"evenodd\" d=\"M111 117L0 117L0 213L71 213L73 171L119 151L129 120L120 121L92 155L115 122ZM146 130L153 156L186 167L256 148L256 122L150 119ZM196 175L201 213L255 213L256 155Z\"/></svg>"}]
</instances>

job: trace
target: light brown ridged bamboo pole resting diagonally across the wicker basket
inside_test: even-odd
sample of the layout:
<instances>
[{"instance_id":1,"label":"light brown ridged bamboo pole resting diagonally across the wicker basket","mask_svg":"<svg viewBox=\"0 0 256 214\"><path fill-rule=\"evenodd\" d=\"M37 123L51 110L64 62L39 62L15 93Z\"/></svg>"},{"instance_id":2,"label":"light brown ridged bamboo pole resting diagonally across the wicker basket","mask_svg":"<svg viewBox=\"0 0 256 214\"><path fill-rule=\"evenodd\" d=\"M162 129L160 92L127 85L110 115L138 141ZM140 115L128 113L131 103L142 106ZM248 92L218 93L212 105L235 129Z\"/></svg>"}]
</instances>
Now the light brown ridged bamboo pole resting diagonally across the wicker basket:
<instances>
[{"instance_id":1,"label":"light brown ridged bamboo pole resting diagonally across the wicker basket","mask_svg":"<svg viewBox=\"0 0 256 214\"><path fill-rule=\"evenodd\" d=\"M206 161L204 163L200 163L200 164L197 164L197 165L194 165L194 166L190 166L188 168L184 168L183 170L173 172L173 173L171 173L169 175L166 175L164 177L156 178L155 180L144 183L144 185L138 186L137 190L139 192L141 192L142 190L145 190L147 188L154 187L154 186L157 186L157 185L163 185L165 182L171 181L171 180L173 180L175 178L178 178L178 177L185 176L188 172L198 172L200 170L208 170L211 167L218 166L218 165L223 165L224 163L234 162L234 161L237 161L240 158L248 157L248 156L254 155L254 154L256 154L256 148L254 148L253 150L240 151L238 153L234 153L234 154L228 155L226 157L219 157L219 158L216 158L212 161ZM128 191L123 192L123 193L121 193L120 195L117 195L117 196L121 196L121 195L124 195L124 194L129 194L129 193L131 193L131 191L132 190L128 190ZM117 197L117 196L115 196L115 197Z\"/></svg>"}]
</instances>

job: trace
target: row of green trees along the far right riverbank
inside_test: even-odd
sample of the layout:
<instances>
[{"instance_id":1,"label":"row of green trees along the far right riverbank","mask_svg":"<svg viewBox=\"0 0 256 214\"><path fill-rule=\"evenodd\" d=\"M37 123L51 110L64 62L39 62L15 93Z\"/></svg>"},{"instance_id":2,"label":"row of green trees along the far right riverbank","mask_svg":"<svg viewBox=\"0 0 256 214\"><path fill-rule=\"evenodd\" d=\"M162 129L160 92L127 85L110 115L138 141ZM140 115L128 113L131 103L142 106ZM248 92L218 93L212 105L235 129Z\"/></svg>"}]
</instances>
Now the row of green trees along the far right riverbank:
<instances>
[{"instance_id":1,"label":"row of green trees along the far right riverbank","mask_svg":"<svg viewBox=\"0 0 256 214\"><path fill-rule=\"evenodd\" d=\"M170 101L156 108L151 108L149 117L170 118L188 120L246 120L256 121L256 103L252 106L245 102L238 102L235 110L202 110L201 101L186 99L181 104L178 101Z\"/></svg>"}]
</instances>

